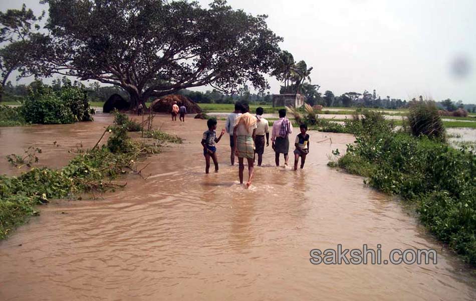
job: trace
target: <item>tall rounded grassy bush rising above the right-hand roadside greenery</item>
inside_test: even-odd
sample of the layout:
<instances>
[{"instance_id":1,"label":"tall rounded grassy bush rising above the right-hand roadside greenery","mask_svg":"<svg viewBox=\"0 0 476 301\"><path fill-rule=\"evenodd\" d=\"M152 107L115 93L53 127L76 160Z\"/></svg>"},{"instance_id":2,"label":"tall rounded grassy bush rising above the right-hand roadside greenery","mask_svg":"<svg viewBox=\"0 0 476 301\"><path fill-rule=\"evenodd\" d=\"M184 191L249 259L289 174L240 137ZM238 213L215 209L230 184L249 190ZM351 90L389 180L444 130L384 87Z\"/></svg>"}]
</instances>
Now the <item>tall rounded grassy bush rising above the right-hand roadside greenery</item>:
<instances>
[{"instance_id":1,"label":"tall rounded grassy bush rising above the right-hand roadside greenery","mask_svg":"<svg viewBox=\"0 0 476 301\"><path fill-rule=\"evenodd\" d=\"M443 120L434 101L412 101L408 113L408 123L414 136L425 135L445 140Z\"/></svg>"}]
</instances>

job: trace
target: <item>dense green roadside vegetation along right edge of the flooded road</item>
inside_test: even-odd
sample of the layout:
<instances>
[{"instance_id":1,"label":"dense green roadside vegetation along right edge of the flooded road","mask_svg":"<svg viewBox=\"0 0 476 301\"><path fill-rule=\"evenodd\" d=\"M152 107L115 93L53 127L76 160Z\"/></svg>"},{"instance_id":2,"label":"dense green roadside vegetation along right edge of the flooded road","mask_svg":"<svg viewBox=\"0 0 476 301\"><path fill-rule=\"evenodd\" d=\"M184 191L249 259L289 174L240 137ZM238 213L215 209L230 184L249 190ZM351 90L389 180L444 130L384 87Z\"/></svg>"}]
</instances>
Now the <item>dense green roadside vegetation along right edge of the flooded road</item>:
<instances>
[{"instance_id":1,"label":"dense green roadside vegetation along right edge of the flooded road","mask_svg":"<svg viewBox=\"0 0 476 301\"><path fill-rule=\"evenodd\" d=\"M431 104L414 105L409 127L397 131L382 116L364 117L337 164L413 204L437 238L476 264L476 156L444 141Z\"/></svg>"}]
</instances>

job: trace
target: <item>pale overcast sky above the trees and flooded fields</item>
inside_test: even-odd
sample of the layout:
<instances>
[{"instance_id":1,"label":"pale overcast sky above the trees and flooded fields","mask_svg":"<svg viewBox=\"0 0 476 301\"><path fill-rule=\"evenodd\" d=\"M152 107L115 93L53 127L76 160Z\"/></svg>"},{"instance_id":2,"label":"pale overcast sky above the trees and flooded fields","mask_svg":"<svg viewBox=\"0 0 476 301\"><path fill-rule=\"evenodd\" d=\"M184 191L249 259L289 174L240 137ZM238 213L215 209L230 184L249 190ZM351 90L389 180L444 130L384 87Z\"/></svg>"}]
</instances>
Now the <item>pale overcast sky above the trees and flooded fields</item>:
<instances>
[{"instance_id":1,"label":"pale overcast sky above the trees and flooded fields","mask_svg":"<svg viewBox=\"0 0 476 301\"><path fill-rule=\"evenodd\" d=\"M0 0L0 9L39 0ZM203 6L210 0L199 0ZM425 95L476 103L474 0L228 0L266 14L281 48L313 66L312 83L336 95L377 90L382 98ZM454 70L459 70L456 73ZM279 85L270 78L271 92ZM205 88L206 89L206 88ZM200 89L204 90L204 89Z\"/></svg>"}]
</instances>

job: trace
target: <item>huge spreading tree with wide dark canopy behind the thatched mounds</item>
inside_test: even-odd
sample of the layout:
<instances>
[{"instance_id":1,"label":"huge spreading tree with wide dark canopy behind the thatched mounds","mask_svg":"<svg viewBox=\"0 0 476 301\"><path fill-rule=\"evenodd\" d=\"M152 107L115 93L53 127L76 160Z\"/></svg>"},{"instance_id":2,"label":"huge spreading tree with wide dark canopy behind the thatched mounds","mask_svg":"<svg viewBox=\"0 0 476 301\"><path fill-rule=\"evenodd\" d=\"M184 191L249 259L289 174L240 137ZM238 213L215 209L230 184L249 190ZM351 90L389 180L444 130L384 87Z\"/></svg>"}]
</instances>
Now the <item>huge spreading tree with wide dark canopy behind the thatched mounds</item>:
<instances>
[{"instance_id":1,"label":"huge spreading tree with wide dark canopy behind the thatched mounds","mask_svg":"<svg viewBox=\"0 0 476 301\"><path fill-rule=\"evenodd\" d=\"M267 16L160 0L44 0L49 33L35 72L124 88L131 107L149 97L210 85L235 92L246 82L269 88L264 74L279 54Z\"/></svg>"}]
</instances>

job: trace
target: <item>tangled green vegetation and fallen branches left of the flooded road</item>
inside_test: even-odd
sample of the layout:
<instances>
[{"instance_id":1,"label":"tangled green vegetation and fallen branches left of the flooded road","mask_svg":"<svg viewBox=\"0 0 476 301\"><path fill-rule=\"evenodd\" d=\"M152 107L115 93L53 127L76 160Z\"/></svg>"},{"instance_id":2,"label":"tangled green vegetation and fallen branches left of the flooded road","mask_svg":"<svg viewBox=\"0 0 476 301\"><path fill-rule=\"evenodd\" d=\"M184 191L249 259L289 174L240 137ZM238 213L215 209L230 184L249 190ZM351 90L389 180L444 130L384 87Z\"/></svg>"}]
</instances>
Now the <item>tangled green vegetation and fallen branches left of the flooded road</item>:
<instances>
[{"instance_id":1,"label":"tangled green vegetation and fallen branches left of the flooded road","mask_svg":"<svg viewBox=\"0 0 476 301\"><path fill-rule=\"evenodd\" d=\"M106 129L110 132L107 143L78 149L78 155L62 169L32 168L19 177L0 176L0 239L29 216L37 215L35 206L50 199L75 199L87 192L103 193L124 187L125 183L117 182L118 177L126 173L140 175L138 160L158 153L161 142L181 141L160 131L154 131L155 141L151 143L133 140L127 134L126 120L129 119L124 114L116 112L114 125ZM11 157L11 163L24 164L31 159L25 156Z\"/></svg>"}]
</instances>

